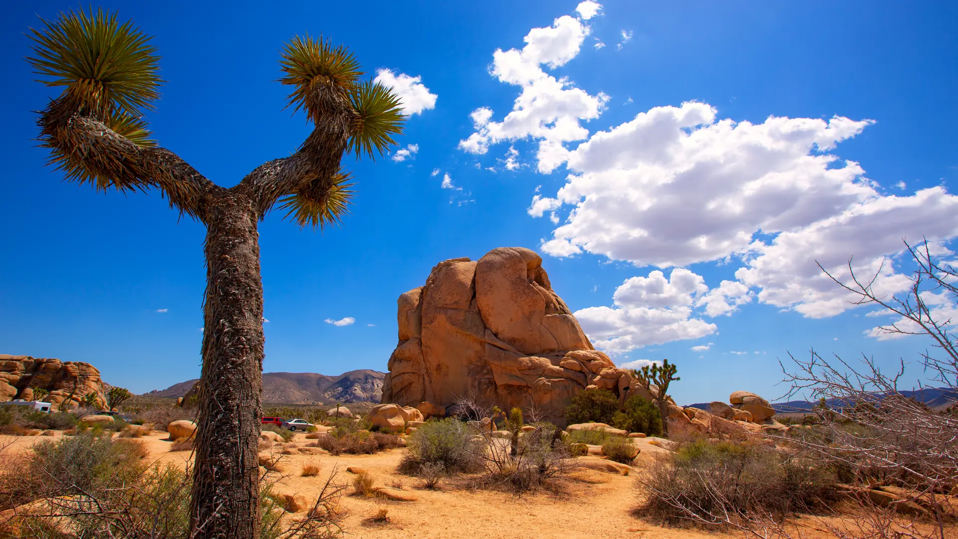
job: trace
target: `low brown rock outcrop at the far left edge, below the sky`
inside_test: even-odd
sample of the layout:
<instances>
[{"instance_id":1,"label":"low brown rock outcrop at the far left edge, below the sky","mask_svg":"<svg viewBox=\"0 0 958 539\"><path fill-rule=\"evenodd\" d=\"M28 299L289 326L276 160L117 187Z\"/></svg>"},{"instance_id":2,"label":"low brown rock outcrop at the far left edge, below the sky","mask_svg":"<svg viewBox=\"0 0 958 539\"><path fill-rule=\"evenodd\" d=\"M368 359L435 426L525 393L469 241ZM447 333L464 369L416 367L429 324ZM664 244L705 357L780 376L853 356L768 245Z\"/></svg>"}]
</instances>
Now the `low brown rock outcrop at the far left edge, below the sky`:
<instances>
[{"instance_id":1,"label":"low brown rock outcrop at the far left edge, below the sky","mask_svg":"<svg viewBox=\"0 0 958 539\"><path fill-rule=\"evenodd\" d=\"M0 354L0 401L33 400L34 388L50 392L43 400L54 410L63 401L75 408L91 392L97 394L98 407L106 406L100 371L90 363Z\"/></svg>"}]
</instances>

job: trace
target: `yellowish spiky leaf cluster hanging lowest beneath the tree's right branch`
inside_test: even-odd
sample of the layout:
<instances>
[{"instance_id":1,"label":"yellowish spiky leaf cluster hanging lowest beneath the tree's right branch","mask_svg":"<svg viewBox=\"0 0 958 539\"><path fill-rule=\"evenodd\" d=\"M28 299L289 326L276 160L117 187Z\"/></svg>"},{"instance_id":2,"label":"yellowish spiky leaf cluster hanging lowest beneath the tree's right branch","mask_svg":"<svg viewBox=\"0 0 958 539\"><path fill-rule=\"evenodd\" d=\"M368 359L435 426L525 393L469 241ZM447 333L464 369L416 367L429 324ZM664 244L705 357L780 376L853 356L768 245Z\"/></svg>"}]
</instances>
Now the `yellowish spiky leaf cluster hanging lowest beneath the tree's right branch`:
<instances>
[{"instance_id":1,"label":"yellowish spiky leaf cluster hanging lowest beneath the tree's right branch","mask_svg":"<svg viewBox=\"0 0 958 539\"><path fill-rule=\"evenodd\" d=\"M328 224L340 224L349 215L355 192L350 189L353 175L340 170L329 185L306 189L280 200L280 208L288 210L285 219L301 227L322 230Z\"/></svg>"}]
</instances>

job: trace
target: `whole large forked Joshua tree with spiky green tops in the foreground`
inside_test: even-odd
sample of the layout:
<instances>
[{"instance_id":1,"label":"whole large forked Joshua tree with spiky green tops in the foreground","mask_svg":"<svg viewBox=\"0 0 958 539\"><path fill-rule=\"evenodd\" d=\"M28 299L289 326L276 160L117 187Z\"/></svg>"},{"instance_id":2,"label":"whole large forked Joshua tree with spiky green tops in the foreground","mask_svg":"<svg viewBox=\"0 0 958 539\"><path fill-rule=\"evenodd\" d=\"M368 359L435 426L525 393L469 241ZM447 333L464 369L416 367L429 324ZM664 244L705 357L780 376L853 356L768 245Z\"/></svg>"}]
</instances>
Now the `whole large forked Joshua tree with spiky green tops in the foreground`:
<instances>
[{"instance_id":1,"label":"whole large forked Joshua tree with spiky green tops in the foreground","mask_svg":"<svg viewBox=\"0 0 958 539\"><path fill-rule=\"evenodd\" d=\"M295 37L281 51L289 104L314 129L288 157L225 188L149 139L143 112L161 81L149 38L115 13L60 13L34 30L40 81L62 86L39 113L50 164L98 191L157 189L207 228L203 370L195 441L191 537L260 533L257 442L262 393L262 280L257 225L277 203L300 226L339 223L353 192L345 152L375 157L404 117L392 88L362 82L360 65L329 40Z\"/></svg>"}]
</instances>

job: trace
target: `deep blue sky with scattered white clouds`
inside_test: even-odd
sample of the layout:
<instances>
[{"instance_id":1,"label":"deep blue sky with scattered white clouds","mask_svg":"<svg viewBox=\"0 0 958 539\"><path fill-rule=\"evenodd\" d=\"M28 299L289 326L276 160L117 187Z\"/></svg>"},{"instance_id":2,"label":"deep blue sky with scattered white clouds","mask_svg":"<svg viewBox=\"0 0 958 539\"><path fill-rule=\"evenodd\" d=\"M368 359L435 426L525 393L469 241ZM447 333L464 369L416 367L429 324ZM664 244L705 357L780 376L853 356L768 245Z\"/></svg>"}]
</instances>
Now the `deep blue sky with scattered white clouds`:
<instances>
[{"instance_id":1,"label":"deep blue sky with scattered white clouds","mask_svg":"<svg viewBox=\"0 0 958 539\"><path fill-rule=\"evenodd\" d=\"M266 371L383 370L399 293L441 260L527 246L617 363L678 363L684 403L778 397L788 351L891 365L929 345L869 336L893 318L850 309L814 268L887 257L895 293L902 237L951 256L958 8L917 6L103 4L163 56L156 138L221 185L308 134L276 82L293 35L349 46L418 111L405 159L345 157L359 183L341 227L262 223ZM44 167L32 110L53 94L23 33L75 7L0 17L0 353L164 388L199 372L204 230L157 193L98 194Z\"/></svg>"}]
</instances>

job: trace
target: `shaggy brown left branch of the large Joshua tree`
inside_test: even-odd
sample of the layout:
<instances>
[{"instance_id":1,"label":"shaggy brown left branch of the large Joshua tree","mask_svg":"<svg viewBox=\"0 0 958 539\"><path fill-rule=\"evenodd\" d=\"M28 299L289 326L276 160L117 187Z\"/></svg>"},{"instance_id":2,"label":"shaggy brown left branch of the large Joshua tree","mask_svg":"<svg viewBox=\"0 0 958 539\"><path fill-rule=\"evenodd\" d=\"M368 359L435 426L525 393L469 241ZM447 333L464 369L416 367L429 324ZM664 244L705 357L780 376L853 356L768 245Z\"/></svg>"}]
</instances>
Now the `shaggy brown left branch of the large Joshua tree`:
<instances>
[{"instance_id":1,"label":"shaggy brown left branch of the large Joshua tree","mask_svg":"<svg viewBox=\"0 0 958 539\"><path fill-rule=\"evenodd\" d=\"M138 145L69 101L53 100L37 124L41 145L52 151L51 160L67 177L89 181L97 189L156 187L172 207L199 220L205 219L207 197L223 189L175 153Z\"/></svg>"}]
</instances>

